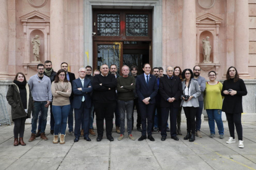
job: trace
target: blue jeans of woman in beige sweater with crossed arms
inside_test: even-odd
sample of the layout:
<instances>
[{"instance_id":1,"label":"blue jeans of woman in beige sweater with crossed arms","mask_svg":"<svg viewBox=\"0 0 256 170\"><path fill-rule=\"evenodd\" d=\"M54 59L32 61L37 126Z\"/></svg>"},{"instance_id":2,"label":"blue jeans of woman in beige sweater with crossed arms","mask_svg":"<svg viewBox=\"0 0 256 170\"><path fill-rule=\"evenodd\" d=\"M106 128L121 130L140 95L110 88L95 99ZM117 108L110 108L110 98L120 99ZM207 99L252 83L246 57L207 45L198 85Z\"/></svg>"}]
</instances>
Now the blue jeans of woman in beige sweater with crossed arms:
<instances>
[{"instance_id":1,"label":"blue jeans of woman in beige sweater with crossed arms","mask_svg":"<svg viewBox=\"0 0 256 170\"><path fill-rule=\"evenodd\" d=\"M53 105L53 116L54 116L54 135L58 135L59 131L61 134L66 134L67 128L67 116L69 116L70 105L54 106Z\"/></svg>"}]
</instances>

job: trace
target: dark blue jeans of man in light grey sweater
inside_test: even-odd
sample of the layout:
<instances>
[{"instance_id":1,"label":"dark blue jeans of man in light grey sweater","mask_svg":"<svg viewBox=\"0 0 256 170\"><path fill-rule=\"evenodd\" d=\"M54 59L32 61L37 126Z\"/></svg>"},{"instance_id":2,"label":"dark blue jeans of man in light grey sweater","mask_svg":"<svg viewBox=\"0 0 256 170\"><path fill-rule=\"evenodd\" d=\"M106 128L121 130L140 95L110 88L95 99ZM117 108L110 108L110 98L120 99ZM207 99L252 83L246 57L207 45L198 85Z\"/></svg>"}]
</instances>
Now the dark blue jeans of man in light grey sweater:
<instances>
[{"instance_id":1,"label":"dark blue jeans of man in light grey sweater","mask_svg":"<svg viewBox=\"0 0 256 170\"><path fill-rule=\"evenodd\" d=\"M36 134L36 124L37 124L38 114L40 110L41 110L41 132L40 133L45 132L47 116L48 116L48 107L45 107L46 103L47 103L46 101L45 102L34 101L34 107L32 110L32 116L33 116L32 129L31 129L32 134Z\"/></svg>"}]
</instances>

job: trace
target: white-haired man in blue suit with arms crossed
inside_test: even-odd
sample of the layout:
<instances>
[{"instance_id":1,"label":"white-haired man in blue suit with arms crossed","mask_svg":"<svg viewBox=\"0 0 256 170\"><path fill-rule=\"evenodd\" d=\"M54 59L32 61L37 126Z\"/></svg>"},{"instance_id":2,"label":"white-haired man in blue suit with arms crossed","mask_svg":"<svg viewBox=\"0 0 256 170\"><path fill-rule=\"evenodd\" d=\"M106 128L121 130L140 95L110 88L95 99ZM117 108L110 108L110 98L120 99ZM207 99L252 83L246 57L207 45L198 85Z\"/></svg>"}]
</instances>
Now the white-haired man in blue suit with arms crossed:
<instances>
[{"instance_id":1,"label":"white-haired man in blue suit with arms crossed","mask_svg":"<svg viewBox=\"0 0 256 170\"><path fill-rule=\"evenodd\" d=\"M83 138L91 141L89 138L89 117L90 108L92 107L92 100L90 92L92 92L92 81L85 78L85 68L79 69L79 78L72 82L72 91L74 92L73 107L75 108L75 139L74 142L79 141L81 136L80 127L83 116Z\"/></svg>"}]
</instances>

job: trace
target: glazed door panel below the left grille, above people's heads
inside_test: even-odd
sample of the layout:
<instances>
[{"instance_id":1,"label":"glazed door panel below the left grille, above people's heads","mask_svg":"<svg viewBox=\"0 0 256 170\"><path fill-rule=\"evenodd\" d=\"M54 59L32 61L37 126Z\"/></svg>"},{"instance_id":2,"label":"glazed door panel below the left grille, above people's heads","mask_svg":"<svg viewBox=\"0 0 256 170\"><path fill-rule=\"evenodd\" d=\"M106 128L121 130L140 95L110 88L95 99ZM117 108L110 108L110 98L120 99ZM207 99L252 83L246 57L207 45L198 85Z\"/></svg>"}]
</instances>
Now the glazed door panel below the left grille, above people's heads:
<instances>
[{"instance_id":1,"label":"glazed door panel below the left grille, above people's heads","mask_svg":"<svg viewBox=\"0 0 256 170\"><path fill-rule=\"evenodd\" d=\"M119 72L120 63L120 49L119 45L98 45L98 70L100 66L106 64L117 65L117 72Z\"/></svg>"}]
</instances>

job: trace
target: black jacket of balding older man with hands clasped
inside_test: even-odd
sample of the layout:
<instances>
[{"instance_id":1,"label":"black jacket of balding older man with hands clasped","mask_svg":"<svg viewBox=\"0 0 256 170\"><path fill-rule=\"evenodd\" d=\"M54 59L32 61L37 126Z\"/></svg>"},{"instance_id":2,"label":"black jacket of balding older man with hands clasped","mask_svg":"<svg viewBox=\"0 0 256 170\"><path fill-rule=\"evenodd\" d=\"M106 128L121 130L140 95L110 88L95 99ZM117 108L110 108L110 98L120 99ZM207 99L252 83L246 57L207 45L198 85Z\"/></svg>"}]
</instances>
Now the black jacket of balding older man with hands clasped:
<instances>
[{"instance_id":1,"label":"black jacket of balding older man with hands clasped","mask_svg":"<svg viewBox=\"0 0 256 170\"><path fill-rule=\"evenodd\" d=\"M159 91L161 94L161 107L169 107L171 103L167 101L169 97L174 97L176 100L173 102L174 108L179 108L181 104L181 79L173 76L173 79L168 79L167 75L160 78Z\"/></svg>"}]
</instances>

